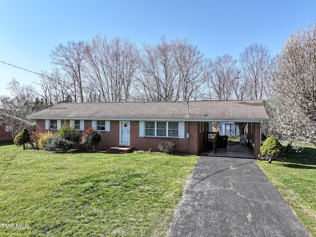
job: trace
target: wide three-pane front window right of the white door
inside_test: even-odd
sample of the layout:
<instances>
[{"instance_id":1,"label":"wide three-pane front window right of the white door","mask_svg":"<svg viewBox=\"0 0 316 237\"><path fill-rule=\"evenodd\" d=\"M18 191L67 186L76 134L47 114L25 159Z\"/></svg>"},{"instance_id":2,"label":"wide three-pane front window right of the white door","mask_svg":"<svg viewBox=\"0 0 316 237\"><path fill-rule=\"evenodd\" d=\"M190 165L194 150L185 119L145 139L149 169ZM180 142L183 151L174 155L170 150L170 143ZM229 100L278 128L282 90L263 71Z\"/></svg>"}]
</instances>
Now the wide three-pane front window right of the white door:
<instances>
[{"instance_id":1,"label":"wide three-pane front window right of the white door","mask_svg":"<svg viewBox=\"0 0 316 237\"><path fill-rule=\"evenodd\" d=\"M145 122L145 136L149 137L179 137L178 122Z\"/></svg>"}]
</instances>

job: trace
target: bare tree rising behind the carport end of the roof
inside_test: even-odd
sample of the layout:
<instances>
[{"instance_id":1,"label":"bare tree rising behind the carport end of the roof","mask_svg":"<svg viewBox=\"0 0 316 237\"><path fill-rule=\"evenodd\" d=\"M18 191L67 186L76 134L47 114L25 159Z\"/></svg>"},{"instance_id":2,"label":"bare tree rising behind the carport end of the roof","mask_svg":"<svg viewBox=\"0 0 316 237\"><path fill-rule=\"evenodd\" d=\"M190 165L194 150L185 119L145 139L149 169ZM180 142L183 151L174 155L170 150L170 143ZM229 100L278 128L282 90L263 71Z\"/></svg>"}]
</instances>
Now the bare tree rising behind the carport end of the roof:
<instances>
[{"instance_id":1,"label":"bare tree rising behind the carport end of the roof","mask_svg":"<svg viewBox=\"0 0 316 237\"><path fill-rule=\"evenodd\" d=\"M251 44L239 54L241 76L246 81L247 97L262 99L266 97L267 82L270 77L271 55L268 47Z\"/></svg>"}]
</instances>

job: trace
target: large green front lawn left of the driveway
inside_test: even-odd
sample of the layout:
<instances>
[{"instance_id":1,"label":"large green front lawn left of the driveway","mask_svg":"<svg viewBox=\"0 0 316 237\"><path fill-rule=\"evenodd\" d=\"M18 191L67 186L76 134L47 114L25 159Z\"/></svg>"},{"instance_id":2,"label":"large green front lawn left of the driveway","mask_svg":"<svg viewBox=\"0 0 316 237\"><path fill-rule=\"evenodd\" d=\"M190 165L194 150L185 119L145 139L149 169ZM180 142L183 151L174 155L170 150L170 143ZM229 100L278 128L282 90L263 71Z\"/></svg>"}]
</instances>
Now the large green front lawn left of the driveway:
<instances>
[{"instance_id":1,"label":"large green front lawn left of the driveway","mask_svg":"<svg viewBox=\"0 0 316 237\"><path fill-rule=\"evenodd\" d=\"M0 236L166 236L197 159L56 154L1 143Z\"/></svg>"}]
</instances>

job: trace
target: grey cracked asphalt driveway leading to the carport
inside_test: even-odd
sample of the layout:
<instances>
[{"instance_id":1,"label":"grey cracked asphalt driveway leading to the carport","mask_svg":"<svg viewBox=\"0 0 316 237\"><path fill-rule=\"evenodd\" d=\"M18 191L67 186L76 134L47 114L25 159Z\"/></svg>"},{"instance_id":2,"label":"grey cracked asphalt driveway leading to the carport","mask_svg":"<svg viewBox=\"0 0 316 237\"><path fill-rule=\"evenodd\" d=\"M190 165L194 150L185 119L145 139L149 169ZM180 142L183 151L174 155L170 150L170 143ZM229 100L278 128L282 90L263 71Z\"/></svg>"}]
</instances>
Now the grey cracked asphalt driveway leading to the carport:
<instances>
[{"instance_id":1,"label":"grey cracked asphalt driveway leading to the carport","mask_svg":"<svg viewBox=\"0 0 316 237\"><path fill-rule=\"evenodd\" d=\"M168 237L310 237L253 159L200 156Z\"/></svg>"}]
</instances>

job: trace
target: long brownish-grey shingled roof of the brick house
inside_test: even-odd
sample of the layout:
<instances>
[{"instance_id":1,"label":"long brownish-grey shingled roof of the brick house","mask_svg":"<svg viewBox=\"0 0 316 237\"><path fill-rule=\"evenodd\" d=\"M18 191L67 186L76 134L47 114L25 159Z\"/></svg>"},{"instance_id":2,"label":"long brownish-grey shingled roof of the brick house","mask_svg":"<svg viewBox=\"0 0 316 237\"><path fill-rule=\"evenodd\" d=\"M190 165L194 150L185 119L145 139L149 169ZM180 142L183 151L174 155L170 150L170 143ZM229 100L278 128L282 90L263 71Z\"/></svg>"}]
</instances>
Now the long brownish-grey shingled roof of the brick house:
<instances>
[{"instance_id":1,"label":"long brownish-grey shingled roof of the brick house","mask_svg":"<svg viewBox=\"0 0 316 237\"><path fill-rule=\"evenodd\" d=\"M261 100L71 102L41 110L28 118L232 122L269 120Z\"/></svg>"}]
</instances>

